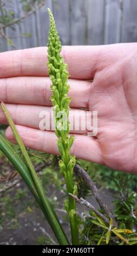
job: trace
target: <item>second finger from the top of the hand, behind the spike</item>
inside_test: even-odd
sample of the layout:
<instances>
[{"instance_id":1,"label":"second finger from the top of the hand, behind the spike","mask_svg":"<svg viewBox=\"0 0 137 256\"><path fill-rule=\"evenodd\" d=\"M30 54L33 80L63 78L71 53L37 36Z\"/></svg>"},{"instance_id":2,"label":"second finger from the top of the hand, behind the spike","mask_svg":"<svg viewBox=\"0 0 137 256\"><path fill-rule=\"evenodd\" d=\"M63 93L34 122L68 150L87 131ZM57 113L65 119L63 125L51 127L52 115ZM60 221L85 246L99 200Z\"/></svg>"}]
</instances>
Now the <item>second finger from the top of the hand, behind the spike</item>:
<instances>
[{"instance_id":1,"label":"second finger from the top of the hand, behind the spike","mask_svg":"<svg viewBox=\"0 0 137 256\"><path fill-rule=\"evenodd\" d=\"M70 107L88 107L91 82L69 79ZM10 77L0 79L0 100L6 103L51 106L49 77Z\"/></svg>"}]
</instances>

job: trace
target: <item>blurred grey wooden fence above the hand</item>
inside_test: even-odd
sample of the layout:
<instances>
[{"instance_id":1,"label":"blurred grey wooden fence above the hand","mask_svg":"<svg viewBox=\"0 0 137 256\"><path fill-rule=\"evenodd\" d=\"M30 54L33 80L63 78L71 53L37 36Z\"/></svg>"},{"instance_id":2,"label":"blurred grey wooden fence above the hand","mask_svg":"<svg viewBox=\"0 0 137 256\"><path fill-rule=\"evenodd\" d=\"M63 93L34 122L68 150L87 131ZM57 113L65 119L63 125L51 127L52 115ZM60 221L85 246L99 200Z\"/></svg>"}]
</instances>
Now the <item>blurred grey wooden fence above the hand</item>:
<instances>
[{"instance_id":1,"label":"blurred grey wooden fence above the hand","mask_svg":"<svg viewBox=\"0 0 137 256\"><path fill-rule=\"evenodd\" d=\"M63 45L137 40L136 0L1 0L0 50L45 46L48 7Z\"/></svg>"}]
</instances>

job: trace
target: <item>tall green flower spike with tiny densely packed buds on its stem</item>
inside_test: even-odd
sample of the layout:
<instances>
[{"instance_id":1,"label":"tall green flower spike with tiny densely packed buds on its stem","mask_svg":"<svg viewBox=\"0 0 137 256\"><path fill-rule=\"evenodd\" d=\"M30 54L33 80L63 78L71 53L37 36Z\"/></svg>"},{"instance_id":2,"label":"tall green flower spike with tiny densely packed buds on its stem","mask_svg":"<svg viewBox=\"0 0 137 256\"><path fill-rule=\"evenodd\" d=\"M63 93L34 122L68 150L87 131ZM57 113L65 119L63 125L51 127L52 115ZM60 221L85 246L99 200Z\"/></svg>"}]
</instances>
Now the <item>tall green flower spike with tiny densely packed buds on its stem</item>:
<instances>
[{"instance_id":1,"label":"tall green flower spike with tiny densely packed buds on its stem","mask_svg":"<svg viewBox=\"0 0 137 256\"><path fill-rule=\"evenodd\" d=\"M58 150L60 151L62 160L59 167L66 179L67 192L74 193L73 169L76 163L75 156L70 155L70 148L74 142L74 136L68 136L70 125L68 121L69 103L71 98L68 97L69 85L67 64L61 56L61 41L56 30L56 24L48 9L50 17L50 30L48 38L48 72L51 79L51 102L54 106L55 133L57 136ZM75 188L76 190L76 188ZM73 245L79 244L79 230L76 216L75 199L68 196L68 214L70 218L71 239Z\"/></svg>"}]
</instances>

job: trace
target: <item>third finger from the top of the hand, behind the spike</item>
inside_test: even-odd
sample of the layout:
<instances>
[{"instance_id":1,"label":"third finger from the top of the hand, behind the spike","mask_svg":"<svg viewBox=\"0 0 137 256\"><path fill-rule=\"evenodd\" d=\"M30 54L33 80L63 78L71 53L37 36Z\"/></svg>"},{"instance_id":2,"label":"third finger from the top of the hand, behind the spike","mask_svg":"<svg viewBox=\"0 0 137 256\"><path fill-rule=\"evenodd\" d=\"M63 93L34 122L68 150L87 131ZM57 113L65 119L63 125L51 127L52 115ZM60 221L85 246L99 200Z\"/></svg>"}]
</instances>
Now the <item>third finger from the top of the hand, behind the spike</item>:
<instances>
[{"instance_id":1,"label":"third finger from the top of the hand, behind the spike","mask_svg":"<svg viewBox=\"0 0 137 256\"><path fill-rule=\"evenodd\" d=\"M6 104L12 120L17 125L23 125L40 130L54 130L54 118L51 107ZM91 125L90 112L81 109L70 109L69 120L71 133L87 133L87 124ZM8 124L5 114L0 108L0 123ZM88 125L88 126L89 126Z\"/></svg>"}]
</instances>

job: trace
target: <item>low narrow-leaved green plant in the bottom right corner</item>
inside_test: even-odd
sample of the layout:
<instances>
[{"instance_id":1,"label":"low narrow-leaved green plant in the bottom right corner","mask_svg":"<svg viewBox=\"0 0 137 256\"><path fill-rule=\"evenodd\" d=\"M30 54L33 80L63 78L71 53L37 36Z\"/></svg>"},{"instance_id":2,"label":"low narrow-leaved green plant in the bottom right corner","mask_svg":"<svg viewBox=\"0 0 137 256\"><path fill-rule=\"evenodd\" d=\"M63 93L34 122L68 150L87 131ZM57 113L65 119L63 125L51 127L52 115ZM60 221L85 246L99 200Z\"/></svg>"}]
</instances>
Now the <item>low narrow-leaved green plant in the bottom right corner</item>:
<instances>
[{"instance_id":1,"label":"low narrow-leaved green plant in the bottom right corner","mask_svg":"<svg viewBox=\"0 0 137 256\"><path fill-rule=\"evenodd\" d=\"M119 175L119 179L115 182L118 189L116 200L112 202L114 205L114 217L106 223L94 211L89 211L89 215L85 217L81 228L80 242L86 245L135 245L137 244L137 217L136 217L136 194L129 192L127 180ZM105 212L99 210L105 216Z\"/></svg>"}]
</instances>

